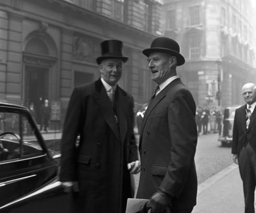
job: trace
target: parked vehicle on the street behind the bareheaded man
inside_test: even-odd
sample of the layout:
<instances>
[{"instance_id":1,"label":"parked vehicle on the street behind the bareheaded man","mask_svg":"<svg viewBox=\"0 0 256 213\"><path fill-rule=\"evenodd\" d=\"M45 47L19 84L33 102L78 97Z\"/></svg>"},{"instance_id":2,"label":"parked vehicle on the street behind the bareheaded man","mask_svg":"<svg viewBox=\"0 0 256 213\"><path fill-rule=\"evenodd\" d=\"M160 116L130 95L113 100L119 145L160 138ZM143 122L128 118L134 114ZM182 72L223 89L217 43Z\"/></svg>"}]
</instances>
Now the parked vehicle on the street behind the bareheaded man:
<instances>
[{"instance_id":1,"label":"parked vehicle on the street behind the bareheaded man","mask_svg":"<svg viewBox=\"0 0 256 213\"><path fill-rule=\"evenodd\" d=\"M232 143L234 117L238 107L240 106L232 106L224 109L221 132L218 138L222 146L227 146Z\"/></svg>"}]
</instances>

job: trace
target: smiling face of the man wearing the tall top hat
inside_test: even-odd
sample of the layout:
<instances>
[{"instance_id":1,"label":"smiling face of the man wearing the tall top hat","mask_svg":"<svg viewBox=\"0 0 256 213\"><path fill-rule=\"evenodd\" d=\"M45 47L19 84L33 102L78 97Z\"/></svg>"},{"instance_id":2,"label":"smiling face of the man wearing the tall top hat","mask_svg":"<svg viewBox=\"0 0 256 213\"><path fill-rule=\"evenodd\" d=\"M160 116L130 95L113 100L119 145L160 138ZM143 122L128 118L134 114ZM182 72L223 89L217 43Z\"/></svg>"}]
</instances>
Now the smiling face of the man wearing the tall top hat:
<instances>
[{"instance_id":1,"label":"smiling face of the man wearing the tall top hat","mask_svg":"<svg viewBox=\"0 0 256 213\"><path fill-rule=\"evenodd\" d=\"M122 76L123 61L122 59L109 58L105 59L100 64L101 77L110 86L115 86L117 81Z\"/></svg>"}]
</instances>

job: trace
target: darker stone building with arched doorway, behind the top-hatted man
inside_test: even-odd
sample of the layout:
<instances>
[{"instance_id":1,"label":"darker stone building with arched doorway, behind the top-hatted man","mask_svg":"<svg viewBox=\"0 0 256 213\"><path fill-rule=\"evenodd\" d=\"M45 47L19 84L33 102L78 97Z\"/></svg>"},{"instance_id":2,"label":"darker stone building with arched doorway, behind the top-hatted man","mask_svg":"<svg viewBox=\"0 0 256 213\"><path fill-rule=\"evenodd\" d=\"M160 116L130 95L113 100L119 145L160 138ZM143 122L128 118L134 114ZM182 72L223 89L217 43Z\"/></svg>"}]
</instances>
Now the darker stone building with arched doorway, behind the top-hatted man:
<instances>
[{"instance_id":1,"label":"darker stone building with arched doorway, behind the top-hatted man","mask_svg":"<svg viewBox=\"0 0 256 213\"><path fill-rule=\"evenodd\" d=\"M44 99L61 126L74 87L99 78L100 42L122 40L125 64L119 86L135 109L146 103L150 81L147 48L160 31L155 0L0 0L0 98L37 111Z\"/></svg>"}]
</instances>

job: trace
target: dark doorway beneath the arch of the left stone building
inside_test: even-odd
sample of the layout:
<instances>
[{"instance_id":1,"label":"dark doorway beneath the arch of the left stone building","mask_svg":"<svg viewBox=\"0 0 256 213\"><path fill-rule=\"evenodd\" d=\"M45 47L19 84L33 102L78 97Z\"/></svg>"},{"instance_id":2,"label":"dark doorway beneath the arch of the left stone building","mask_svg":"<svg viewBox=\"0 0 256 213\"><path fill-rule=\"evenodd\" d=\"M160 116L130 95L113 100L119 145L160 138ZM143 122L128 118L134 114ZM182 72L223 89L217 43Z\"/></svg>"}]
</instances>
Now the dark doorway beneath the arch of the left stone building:
<instances>
[{"instance_id":1,"label":"dark doorway beneath the arch of the left stone building","mask_svg":"<svg viewBox=\"0 0 256 213\"><path fill-rule=\"evenodd\" d=\"M25 77L26 105L34 104L36 121L41 122L40 108L45 99L49 99L49 69L26 66Z\"/></svg>"}]
</instances>

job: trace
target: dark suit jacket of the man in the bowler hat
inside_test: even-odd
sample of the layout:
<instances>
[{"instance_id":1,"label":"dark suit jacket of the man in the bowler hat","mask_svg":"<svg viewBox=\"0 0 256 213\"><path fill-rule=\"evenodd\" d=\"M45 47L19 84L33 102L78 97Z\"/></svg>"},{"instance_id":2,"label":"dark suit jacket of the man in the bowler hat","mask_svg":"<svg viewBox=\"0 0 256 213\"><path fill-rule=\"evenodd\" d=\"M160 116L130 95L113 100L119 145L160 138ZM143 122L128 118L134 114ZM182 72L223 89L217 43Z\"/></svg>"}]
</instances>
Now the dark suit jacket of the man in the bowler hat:
<instances>
[{"instance_id":1,"label":"dark suit jacket of the man in the bowler hat","mask_svg":"<svg viewBox=\"0 0 256 213\"><path fill-rule=\"evenodd\" d=\"M172 197L174 209L196 205L195 102L175 79L150 102L140 135L140 174L137 198L149 199L157 189Z\"/></svg>"}]
</instances>

